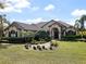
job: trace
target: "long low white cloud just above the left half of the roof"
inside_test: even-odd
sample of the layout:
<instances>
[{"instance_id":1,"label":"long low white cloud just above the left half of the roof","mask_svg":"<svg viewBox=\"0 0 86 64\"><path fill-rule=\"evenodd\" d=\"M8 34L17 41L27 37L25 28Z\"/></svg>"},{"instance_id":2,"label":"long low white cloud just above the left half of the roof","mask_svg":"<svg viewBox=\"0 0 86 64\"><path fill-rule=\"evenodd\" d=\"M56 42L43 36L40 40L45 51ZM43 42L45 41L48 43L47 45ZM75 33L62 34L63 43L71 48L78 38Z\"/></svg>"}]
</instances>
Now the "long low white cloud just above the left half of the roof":
<instances>
[{"instance_id":1,"label":"long low white cloud just above the left half of the roof","mask_svg":"<svg viewBox=\"0 0 86 64\"><path fill-rule=\"evenodd\" d=\"M42 17L33 18L33 20L13 20L13 21L27 23L27 24L36 24L36 23L40 23L40 22L46 22L46 20L44 20Z\"/></svg>"}]
</instances>

